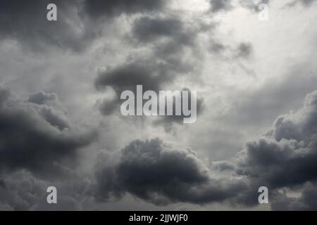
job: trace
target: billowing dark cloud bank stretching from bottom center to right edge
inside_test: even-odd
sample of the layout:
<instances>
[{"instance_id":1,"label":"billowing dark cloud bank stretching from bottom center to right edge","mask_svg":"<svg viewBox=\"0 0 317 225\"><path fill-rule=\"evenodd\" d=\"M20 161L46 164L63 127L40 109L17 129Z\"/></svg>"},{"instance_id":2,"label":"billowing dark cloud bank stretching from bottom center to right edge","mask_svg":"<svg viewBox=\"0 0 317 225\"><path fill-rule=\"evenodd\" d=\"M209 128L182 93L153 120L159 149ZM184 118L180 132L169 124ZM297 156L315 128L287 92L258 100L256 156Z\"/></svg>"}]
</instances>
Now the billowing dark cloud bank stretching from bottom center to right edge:
<instances>
[{"instance_id":1,"label":"billowing dark cloud bank stretching from bottom center to right edge","mask_svg":"<svg viewBox=\"0 0 317 225\"><path fill-rule=\"evenodd\" d=\"M113 165L97 167L97 199L130 193L156 205L175 202L256 205L258 188L271 191L272 209L316 210L308 196L316 194L317 91L308 94L297 113L278 117L259 140L228 161L211 167L193 150L173 148L159 139L132 141ZM281 188L304 187L299 198ZM289 205L287 205L287 203ZM299 205L300 204L300 207Z\"/></svg>"}]
</instances>

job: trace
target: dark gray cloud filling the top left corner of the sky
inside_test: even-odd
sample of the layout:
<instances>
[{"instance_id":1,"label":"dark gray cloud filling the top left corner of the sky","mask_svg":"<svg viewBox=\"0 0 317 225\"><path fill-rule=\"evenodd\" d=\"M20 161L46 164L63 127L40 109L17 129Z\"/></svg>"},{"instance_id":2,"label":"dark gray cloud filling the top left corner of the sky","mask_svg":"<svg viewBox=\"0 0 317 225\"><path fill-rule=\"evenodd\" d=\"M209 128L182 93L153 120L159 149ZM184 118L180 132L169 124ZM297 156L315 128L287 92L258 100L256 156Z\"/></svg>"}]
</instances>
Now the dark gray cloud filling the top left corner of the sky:
<instances>
[{"instance_id":1,"label":"dark gray cloud filling the top left corner of the sky","mask_svg":"<svg viewBox=\"0 0 317 225\"><path fill-rule=\"evenodd\" d=\"M46 19L46 6L52 3L57 6L58 21ZM32 3L1 0L0 39L18 41L32 51L51 46L82 51L99 37L101 23L112 23L109 18L121 13L162 11L165 4L166 0L33 0Z\"/></svg>"}]
</instances>

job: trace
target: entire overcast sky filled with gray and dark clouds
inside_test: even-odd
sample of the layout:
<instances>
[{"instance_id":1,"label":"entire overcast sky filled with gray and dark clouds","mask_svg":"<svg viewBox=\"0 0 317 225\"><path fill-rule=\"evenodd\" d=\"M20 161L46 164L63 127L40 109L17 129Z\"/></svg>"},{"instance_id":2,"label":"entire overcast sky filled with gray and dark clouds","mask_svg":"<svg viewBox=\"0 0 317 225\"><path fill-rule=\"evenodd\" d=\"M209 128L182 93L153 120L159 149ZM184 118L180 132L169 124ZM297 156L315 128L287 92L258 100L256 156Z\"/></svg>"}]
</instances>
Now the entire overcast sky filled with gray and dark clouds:
<instances>
[{"instance_id":1,"label":"entire overcast sky filled with gray and dark clouds","mask_svg":"<svg viewBox=\"0 0 317 225\"><path fill-rule=\"evenodd\" d=\"M315 0L0 0L0 210L317 210L316 20ZM197 91L197 121L124 117L137 84Z\"/></svg>"}]
</instances>

